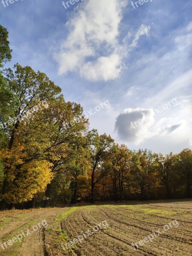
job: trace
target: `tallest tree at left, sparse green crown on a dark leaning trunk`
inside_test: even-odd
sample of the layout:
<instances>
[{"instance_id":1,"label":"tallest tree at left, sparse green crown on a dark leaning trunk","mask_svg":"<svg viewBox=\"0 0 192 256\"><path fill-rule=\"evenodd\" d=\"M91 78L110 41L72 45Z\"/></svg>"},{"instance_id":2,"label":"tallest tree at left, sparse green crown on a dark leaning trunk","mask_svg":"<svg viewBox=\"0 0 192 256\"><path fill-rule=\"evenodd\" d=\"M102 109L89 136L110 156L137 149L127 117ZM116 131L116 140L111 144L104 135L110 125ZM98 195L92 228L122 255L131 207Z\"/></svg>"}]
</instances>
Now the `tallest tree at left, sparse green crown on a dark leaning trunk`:
<instances>
[{"instance_id":1,"label":"tallest tree at left, sparse green crown on a dark leaning trunk","mask_svg":"<svg viewBox=\"0 0 192 256\"><path fill-rule=\"evenodd\" d=\"M12 92L14 101L14 118L9 120L4 131L7 136L10 137L7 143L7 149L9 151L14 150L15 133L20 127L20 123L25 119L25 115L33 111L34 107L47 100L53 100L58 93L61 92L61 88L55 86L55 84L49 80L49 78L41 72L35 72L31 67L22 67L19 64L14 66L14 70L5 70L6 81L9 90ZM12 118L12 116L10 116ZM15 143L15 144L14 144ZM1 208L5 207L5 194L8 188L8 175L10 170L9 159L4 159L4 180L2 188L2 202Z\"/></svg>"}]
</instances>

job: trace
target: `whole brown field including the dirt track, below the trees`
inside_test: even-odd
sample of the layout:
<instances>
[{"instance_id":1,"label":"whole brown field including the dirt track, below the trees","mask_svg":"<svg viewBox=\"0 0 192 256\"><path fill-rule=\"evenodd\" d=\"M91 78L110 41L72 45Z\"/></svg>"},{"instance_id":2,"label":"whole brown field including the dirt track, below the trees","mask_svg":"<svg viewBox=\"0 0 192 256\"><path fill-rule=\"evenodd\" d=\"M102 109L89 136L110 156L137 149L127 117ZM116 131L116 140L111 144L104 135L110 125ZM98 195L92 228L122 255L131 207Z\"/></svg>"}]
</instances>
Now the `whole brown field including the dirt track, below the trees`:
<instances>
[{"instance_id":1,"label":"whole brown field including the dirt track, below the trees","mask_svg":"<svg viewBox=\"0 0 192 256\"><path fill-rule=\"evenodd\" d=\"M42 220L48 226L34 231L32 226ZM4 250L0 247L0 255L189 256L192 255L192 201L0 212L3 243L27 229L29 236Z\"/></svg>"}]
</instances>

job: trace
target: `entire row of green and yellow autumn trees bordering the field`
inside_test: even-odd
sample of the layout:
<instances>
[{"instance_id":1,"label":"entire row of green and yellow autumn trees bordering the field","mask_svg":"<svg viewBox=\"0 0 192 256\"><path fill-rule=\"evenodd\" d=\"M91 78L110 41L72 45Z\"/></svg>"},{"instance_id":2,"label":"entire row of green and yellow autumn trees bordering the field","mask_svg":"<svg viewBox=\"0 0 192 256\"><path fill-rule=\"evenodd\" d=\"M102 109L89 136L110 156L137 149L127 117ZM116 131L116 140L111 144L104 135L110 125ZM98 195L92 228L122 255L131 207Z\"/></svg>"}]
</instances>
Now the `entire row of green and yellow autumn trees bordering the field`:
<instances>
[{"instance_id":1,"label":"entire row of green and yellow autumn trees bordering the field","mask_svg":"<svg viewBox=\"0 0 192 256\"><path fill-rule=\"evenodd\" d=\"M0 207L56 201L190 198L192 151L131 151L89 130L83 108L66 102L46 74L11 60L0 26ZM46 103L46 104L45 104ZM66 125L68 124L68 125Z\"/></svg>"}]
</instances>

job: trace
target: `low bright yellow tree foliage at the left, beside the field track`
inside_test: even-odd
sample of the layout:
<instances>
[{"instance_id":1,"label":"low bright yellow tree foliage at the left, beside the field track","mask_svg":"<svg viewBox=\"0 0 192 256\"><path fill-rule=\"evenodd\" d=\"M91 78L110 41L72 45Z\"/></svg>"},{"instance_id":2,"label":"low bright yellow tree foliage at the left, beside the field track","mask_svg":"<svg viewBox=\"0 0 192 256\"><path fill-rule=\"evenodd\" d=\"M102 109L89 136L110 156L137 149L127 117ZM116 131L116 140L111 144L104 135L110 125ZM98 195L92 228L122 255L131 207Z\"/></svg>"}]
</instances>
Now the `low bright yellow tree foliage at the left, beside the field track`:
<instances>
[{"instance_id":1,"label":"low bright yellow tree foliage at the left, beside the field track","mask_svg":"<svg viewBox=\"0 0 192 256\"><path fill-rule=\"evenodd\" d=\"M8 204L31 200L36 193L43 192L52 179L52 164L37 154L36 157L32 157L38 140L34 143L34 140L30 139L32 134L39 132L39 129L33 130L33 133L26 132L26 130L29 131L27 121L29 119L20 122L20 128L15 132L12 149L3 148L0 151L3 165L8 167L7 189L3 194Z\"/></svg>"}]
</instances>

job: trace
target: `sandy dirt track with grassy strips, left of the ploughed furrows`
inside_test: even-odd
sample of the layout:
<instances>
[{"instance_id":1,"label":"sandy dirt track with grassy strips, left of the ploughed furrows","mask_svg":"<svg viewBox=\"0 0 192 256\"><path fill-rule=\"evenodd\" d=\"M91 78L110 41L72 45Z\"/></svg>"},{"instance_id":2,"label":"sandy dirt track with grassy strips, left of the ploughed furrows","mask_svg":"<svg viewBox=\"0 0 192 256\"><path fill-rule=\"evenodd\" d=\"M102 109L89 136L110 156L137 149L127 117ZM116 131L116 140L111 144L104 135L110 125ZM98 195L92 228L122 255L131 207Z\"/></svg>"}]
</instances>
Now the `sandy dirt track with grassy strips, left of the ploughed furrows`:
<instances>
[{"instance_id":1,"label":"sandy dirt track with grassy strips, left of the ploughed furrows","mask_svg":"<svg viewBox=\"0 0 192 256\"><path fill-rule=\"evenodd\" d=\"M0 241L5 242L21 234L21 230L28 230L30 234L22 239L21 243L17 242L3 250L0 247L2 256L44 256L47 255L45 247L45 230L41 228L32 231L32 226L46 220L49 225L55 224L55 218L69 208L48 208L35 210L13 210L0 212L0 218L11 219L8 225L0 228ZM8 239L9 238L9 239Z\"/></svg>"}]
</instances>

